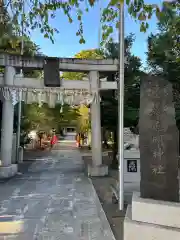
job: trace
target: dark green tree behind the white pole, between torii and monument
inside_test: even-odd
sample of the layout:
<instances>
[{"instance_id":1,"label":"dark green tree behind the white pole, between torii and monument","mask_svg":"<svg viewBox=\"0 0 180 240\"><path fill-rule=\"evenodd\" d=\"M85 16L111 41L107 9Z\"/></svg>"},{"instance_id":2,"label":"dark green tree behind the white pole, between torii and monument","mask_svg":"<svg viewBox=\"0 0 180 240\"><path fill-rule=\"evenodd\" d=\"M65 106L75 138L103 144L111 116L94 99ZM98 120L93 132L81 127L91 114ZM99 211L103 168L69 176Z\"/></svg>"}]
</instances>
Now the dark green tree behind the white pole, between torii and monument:
<instances>
[{"instance_id":1,"label":"dark green tree behind the white pole, between torii and monument","mask_svg":"<svg viewBox=\"0 0 180 240\"><path fill-rule=\"evenodd\" d=\"M139 115L139 96L140 96L140 59L131 53L134 36L130 34L125 38L125 90L124 90L124 126L135 128L138 124ZM118 58L119 44L108 43L105 46L104 54L106 58ZM108 74L109 81L118 80L117 73ZM102 126L109 129L114 134L114 157L113 167L117 167L117 147L118 147L118 100L117 91L108 90L101 93L101 120Z\"/></svg>"}]
</instances>

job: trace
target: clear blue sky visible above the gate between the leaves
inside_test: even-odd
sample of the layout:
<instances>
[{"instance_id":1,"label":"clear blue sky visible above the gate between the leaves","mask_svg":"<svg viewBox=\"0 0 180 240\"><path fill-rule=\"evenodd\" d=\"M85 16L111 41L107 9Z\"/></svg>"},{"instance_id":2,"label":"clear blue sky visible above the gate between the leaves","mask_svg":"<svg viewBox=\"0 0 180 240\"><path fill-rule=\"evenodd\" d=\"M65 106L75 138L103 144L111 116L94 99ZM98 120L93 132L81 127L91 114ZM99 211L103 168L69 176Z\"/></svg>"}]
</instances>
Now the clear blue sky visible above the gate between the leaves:
<instances>
[{"instance_id":1,"label":"clear blue sky visible above the gate between the leaves","mask_svg":"<svg viewBox=\"0 0 180 240\"><path fill-rule=\"evenodd\" d=\"M105 3L107 0L103 0ZM160 0L148 0L148 3L160 3ZM103 6L102 6L103 7ZM76 36L76 30L78 29L78 21L74 21L70 24L67 17L59 11L56 14L56 18L51 20L51 24L56 27L60 32L55 35L55 43L52 44L50 40L44 39L43 35L38 30L33 31L32 40L36 42L41 48L41 51L49 56L56 57L72 57L77 52L83 49L97 48L99 44L98 32L100 26L100 5L97 4L89 13L85 13L83 17L84 36L86 43L79 44L79 38ZM75 15L75 13L74 13ZM125 34L134 33L136 36L135 43L132 48L132 52L142 59L145 64L147 51L147 36L156 32L156 19L153 17L149 22L149 29L146 33L140 32L138 23L135 23L134 19L128 15L125 11ZM116 38L116 33L114 33Z\"/></svg>"}]
</instances>

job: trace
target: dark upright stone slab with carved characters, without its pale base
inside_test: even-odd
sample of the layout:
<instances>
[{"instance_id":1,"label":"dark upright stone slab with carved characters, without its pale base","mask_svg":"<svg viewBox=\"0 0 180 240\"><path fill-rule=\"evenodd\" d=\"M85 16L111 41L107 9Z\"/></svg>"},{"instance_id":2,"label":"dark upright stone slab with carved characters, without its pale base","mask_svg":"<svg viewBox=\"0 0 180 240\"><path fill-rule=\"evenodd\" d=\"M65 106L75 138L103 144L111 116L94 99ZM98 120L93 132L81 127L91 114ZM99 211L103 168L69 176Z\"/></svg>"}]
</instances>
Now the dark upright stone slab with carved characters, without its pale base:
<instances>
[{"instance_id":1,"label":"dark upright stone slab with carved characters, without its pale base","mask_svg":"<svg viewBox=\"0 0 180 240\"><path fill-rule=\"evenodd\" d=\"M172 86L148 77L140 96L141 197L179 201L179 137Z\"/></svg>"}]
</instances>

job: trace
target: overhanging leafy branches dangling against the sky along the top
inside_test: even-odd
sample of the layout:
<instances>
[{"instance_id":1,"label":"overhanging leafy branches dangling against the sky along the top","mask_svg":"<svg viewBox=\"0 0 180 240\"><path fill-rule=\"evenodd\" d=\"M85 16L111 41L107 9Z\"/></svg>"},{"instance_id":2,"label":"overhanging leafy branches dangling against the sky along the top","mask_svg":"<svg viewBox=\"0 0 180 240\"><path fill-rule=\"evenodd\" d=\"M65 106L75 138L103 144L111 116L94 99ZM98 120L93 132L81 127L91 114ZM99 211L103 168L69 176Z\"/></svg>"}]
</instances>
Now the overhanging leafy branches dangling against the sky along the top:
<instances>
[{"instance_id":1,"label":"overhanging leafy branches dangling against the sky along the top","mask_svg":"<svg viewBox=\"0 0 180 240\"><path fill-rule=\"evenodd\" d=\"M53 34L54 32L59 32L59 29L54 28L50 25L50 19L55 18L56 15L63 12L69 23L73 23L74 18L79 21L79 26L76 35L80 38L80 43L85 43L83 34L83 14L88 12L99 0L29 0L28 11L23 12L23 1L11 1L10 7L13 16L13 22L16 26L19 26L19 21L24 22L26 32L30 29L34 30L38 28L45 38L49 38L54 42ZM119 8L121 4L126 4L129 14L136 20L140 22L140 30L146 31L148 28L148 21L155 14L157 18L164 13L164 7L166 12L169 8L176 8L179 5L179 1L174 0L173 4L171 2L164 1L162 7L158 4L148 4L144 0L109 0L107 5L102 11L102 39L106 41L109 39L111 34L114 32L115 28L119 26ZM28 14L26 14L26 12ZM73 14L76 12L76 14ZM21 18L19 17L21 15Z\"/></svg>"}]
</instances>

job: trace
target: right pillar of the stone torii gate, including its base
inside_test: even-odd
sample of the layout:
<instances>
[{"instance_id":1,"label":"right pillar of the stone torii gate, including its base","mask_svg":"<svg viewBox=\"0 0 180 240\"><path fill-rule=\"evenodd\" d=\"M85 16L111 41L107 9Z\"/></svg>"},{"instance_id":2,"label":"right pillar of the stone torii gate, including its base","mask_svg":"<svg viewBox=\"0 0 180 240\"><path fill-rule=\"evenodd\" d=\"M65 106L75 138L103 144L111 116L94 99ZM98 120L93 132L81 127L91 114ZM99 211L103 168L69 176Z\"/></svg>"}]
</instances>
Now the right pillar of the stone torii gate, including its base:
<instances>
[{"instance_id":1,"label":"right pillar of the stone torii gate, including its base","mask_svg":"<svg viewBox=\"0 0 180 240\"><path fill-rule=\"evenodd\" d=\"M102 140L101 140L101 109L99 97L99 72L90 71L89 80L91 91L96 99L91 104L91 146L92 164L88 165L89 176L105 176L108 174L108 166L102 165Z\"/></svg>"}]
</instances>

